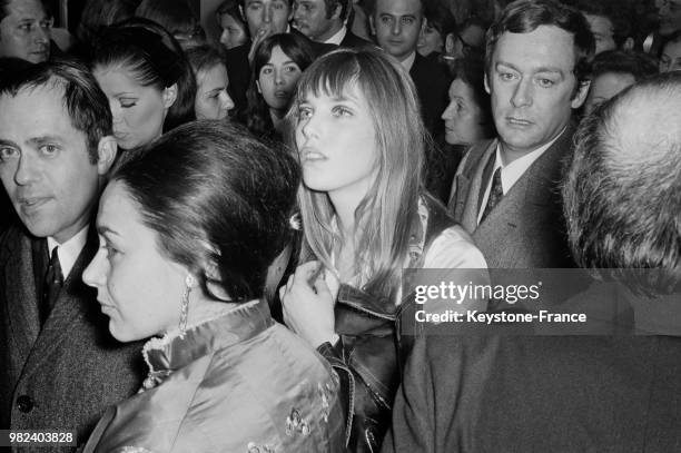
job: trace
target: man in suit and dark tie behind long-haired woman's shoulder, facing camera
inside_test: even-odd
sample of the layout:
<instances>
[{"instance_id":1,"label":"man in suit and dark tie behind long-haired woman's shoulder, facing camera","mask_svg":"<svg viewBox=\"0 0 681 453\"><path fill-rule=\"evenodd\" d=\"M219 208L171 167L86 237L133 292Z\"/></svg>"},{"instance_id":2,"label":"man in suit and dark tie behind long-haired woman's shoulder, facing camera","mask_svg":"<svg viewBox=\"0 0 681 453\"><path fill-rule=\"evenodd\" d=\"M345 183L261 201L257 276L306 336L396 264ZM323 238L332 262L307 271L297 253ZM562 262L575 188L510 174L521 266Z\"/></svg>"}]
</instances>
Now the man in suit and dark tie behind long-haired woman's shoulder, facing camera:
<instances>
[{"instance_id":1,"label":"man in suit and dark tie behind long-haired woman's shoulder, facing camera","mask_svg":"<svg viewBox=\"0 0 681 453\"><path fill-rule=\"evenodd\" d=\"M589 90L593 35L576 10L523 1L492 26L486 46L499 138L467 151L450 211L490 267L572 267L557 186L571 152L572 111Z\"/></svg>"}]
</instances>

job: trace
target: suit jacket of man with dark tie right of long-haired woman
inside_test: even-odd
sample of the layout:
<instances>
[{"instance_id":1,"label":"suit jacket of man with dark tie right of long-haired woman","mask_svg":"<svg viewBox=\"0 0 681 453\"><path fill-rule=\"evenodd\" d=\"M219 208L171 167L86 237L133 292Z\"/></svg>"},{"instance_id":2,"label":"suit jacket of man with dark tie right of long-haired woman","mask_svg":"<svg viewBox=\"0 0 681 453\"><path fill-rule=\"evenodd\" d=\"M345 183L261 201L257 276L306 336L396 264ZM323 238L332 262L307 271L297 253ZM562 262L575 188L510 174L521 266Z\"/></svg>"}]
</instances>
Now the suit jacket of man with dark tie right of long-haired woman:
<instances>
[{"instance_id":1,"label":"suit jacket of man with dark tie right of long-haired woman","mask_svg":"<svg viewBox=\"0 0 681 453\"><path fill-rule=\"evenodd\" d=\"M452 186L448 209L468 232L491 268L574 267L565 236L560 181L572 152L568 127L477 225L481 188L487 161L499 140L473 146Z\"/></svg>"}]
</instances>

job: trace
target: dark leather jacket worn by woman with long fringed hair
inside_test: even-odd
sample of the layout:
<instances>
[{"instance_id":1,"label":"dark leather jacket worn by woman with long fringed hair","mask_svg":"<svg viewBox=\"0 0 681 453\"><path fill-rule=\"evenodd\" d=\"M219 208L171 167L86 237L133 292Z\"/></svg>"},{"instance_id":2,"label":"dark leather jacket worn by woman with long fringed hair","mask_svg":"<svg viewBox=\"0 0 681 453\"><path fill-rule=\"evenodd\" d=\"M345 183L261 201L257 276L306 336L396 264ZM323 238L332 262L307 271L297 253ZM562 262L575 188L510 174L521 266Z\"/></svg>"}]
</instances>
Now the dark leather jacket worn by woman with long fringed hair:
<instances>
[{"instance_id":1,"label":"dark leather jacket worn by woman with long fringed hair","mask_svg":"<svg viewBox=\"0 0 681 453\"><path fill-rule=\"evenodd\" d=\"M428 211L427 225L421 221L412 226L407 267L421 267L433 239L454 225L438 201L430 196L423 196L422 200ZM409 319L403 314L411 312L408 301L413 299L412 290L404 289L403 304L396 306L385 297L340 285L335 305L339 341L317 348L340 378L339 395L351 452L378 452L391 424L402 365L412 349L415 332L413 325L409 329L402 327Z\"/></svg>"}]
</instances>

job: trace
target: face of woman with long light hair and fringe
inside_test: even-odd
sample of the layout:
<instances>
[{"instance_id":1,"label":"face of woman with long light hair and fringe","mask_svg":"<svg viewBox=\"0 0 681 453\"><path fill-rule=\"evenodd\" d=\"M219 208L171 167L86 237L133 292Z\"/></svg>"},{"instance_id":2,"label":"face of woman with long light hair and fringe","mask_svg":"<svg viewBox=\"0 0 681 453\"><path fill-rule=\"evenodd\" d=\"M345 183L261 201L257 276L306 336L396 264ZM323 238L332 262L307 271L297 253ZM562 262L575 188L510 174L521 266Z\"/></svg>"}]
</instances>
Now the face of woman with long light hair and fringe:
<instances>
[{"instance_id":1,"label":"face of woman with long light hair and fringe","mask_svg":"<svg viewBox=\"0 0 681 453\"><path fill-rule=\"evenodd\" d=\"M308 92L297 117L296 146L305 185L329 195L352 191L362 199L375 180L381 155L364 93L356 85L338 98Z\"/></svg>"}]
</instances>

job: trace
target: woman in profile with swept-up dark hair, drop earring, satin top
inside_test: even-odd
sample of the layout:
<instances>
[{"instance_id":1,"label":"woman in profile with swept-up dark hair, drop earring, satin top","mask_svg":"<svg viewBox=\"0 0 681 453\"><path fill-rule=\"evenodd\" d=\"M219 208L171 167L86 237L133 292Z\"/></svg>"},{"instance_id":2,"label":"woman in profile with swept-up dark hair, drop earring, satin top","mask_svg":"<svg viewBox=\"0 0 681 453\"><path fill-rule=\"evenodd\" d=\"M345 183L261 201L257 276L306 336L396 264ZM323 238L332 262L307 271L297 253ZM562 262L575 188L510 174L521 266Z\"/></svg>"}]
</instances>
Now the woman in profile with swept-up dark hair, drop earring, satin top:
<instances>
[{"instance_id":1,"label":"woman in profile with swept-up dark hair, drop earring, satin top","mask_svg":"<svg viewBox=\"0 0 681 453\"><path fill-rule=\"evenodd\" d=\"M197 121L111 175L83 273L149 375L86 452L339 452L338 381L275 323L263 288L289 238L298 169L241 128Z\"/></svg>"}]
</instances>

